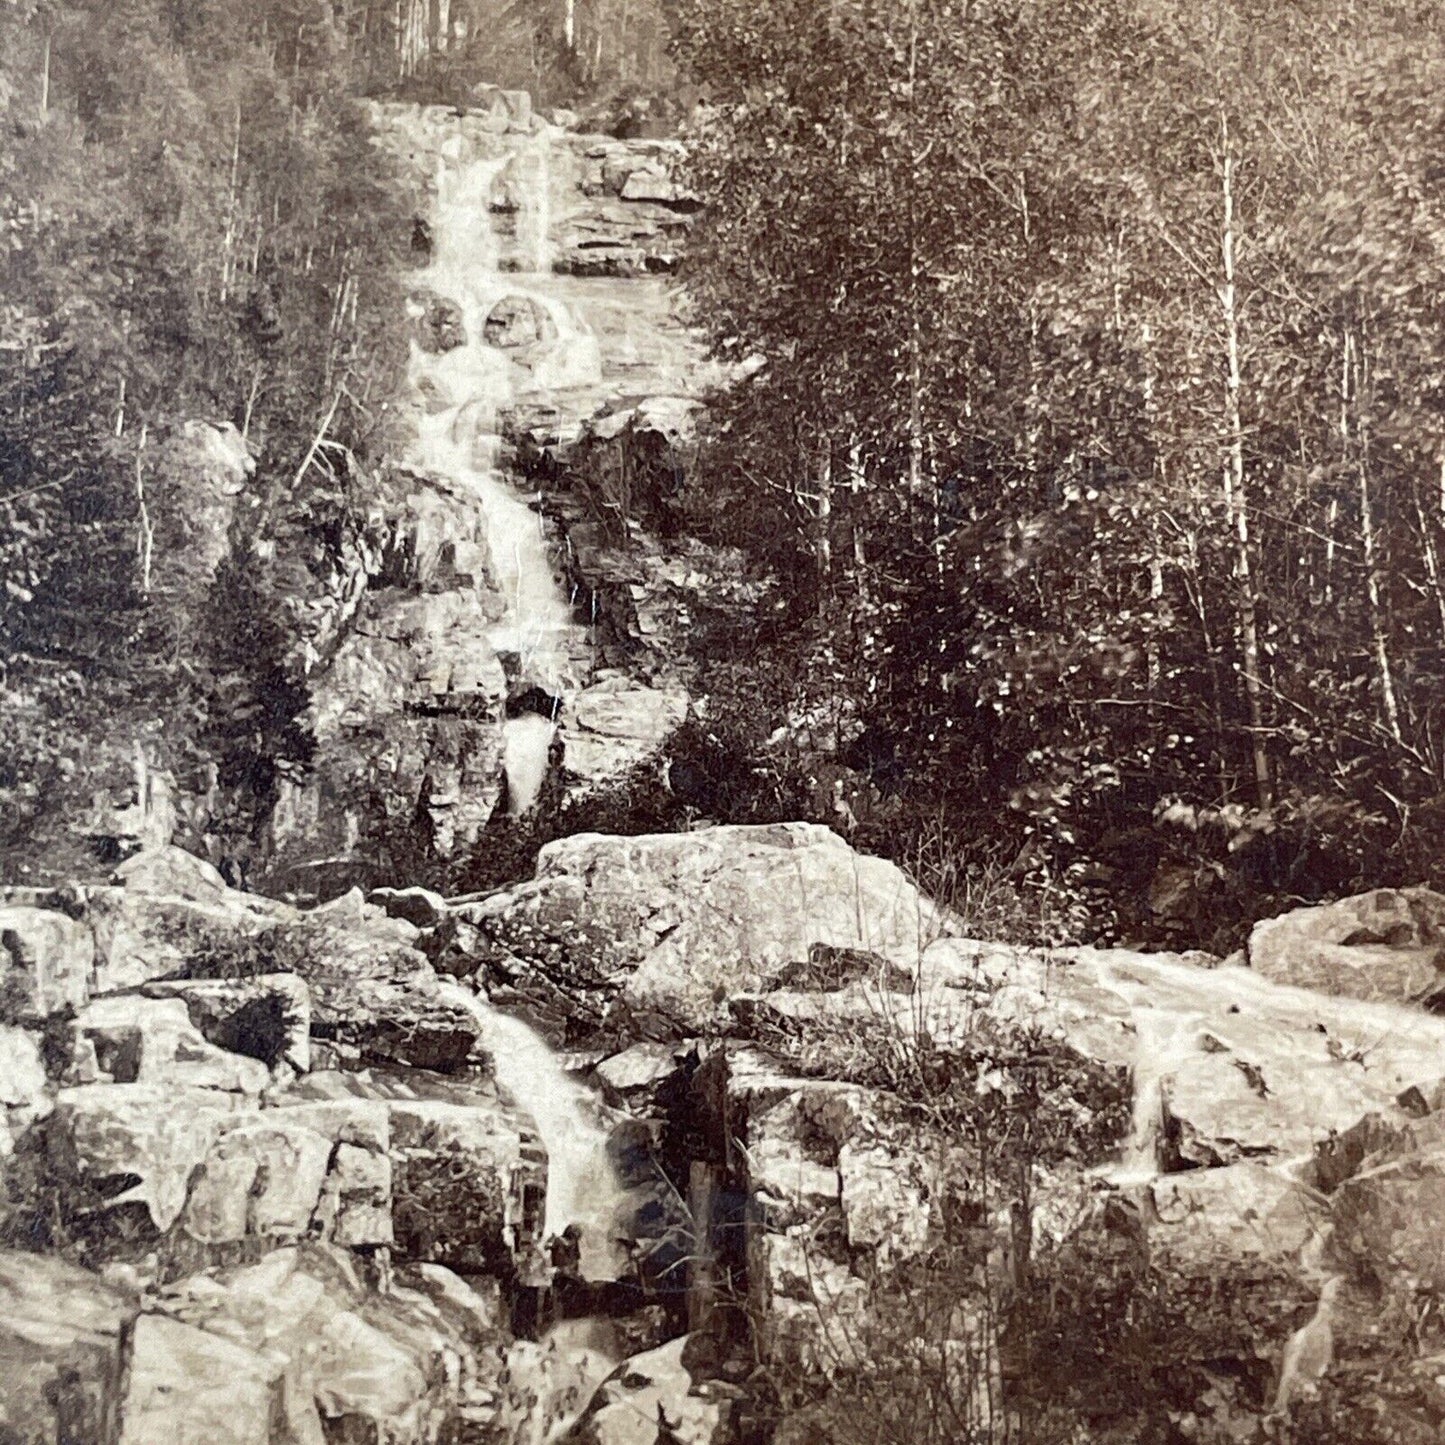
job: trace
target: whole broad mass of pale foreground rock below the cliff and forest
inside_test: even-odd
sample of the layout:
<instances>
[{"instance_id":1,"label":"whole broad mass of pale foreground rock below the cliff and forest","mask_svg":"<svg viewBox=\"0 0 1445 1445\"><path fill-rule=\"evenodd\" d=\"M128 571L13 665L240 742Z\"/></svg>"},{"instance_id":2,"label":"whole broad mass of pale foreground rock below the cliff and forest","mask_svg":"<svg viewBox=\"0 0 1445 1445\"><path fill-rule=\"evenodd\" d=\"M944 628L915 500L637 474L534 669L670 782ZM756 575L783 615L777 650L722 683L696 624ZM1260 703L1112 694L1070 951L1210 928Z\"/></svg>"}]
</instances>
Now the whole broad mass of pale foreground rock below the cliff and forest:
<instances>
[{"instance_id":1,"label":"whole broad mass of pale foreground rock below the cliff and forest","mask_svg":"<svg viewBox=\"0 0 1445 1445\"><path fill-rule=\"evenodd\" d=\"M1237 965L951 936L825 829L578 837L478 902L311 910L171 851L65 902L85 1000L4 1035L7 1237L52 1251L0 1253L20 1438L510 1438L542 1409L578 1442L722 1445L779 1407L740 1383L740 1328L770 1379L841 1389L918 1272L964 1256L975 1285L920 1338L971 1358L967 1289L1023 1287L987 1123L1023 1078L1046 1081L1033 1267L1104 1230L1189 1289L1235 1280L1251 1344L1221 1344L1208 1306L1159 1347L1205 1373L1235 1351L1256 1383L1225 1413L1316 1387L1287 1360L1322 1312L1348 1334L1370 1289L1445 1287L1445 1020ZM491 1004L438 978L434 936L468 941ZM575 1240L543 1248L553 1188L579 1198L549 1156L574 1126L499 1082L517 1068L494 1051L532 1038L488 1026L503 998L616 1038L549 1065L611 1120L634 1270L613 1283L584 1282ZM517 1340L543 1286L616 1327Z\"/></svg>"}]
</instances>

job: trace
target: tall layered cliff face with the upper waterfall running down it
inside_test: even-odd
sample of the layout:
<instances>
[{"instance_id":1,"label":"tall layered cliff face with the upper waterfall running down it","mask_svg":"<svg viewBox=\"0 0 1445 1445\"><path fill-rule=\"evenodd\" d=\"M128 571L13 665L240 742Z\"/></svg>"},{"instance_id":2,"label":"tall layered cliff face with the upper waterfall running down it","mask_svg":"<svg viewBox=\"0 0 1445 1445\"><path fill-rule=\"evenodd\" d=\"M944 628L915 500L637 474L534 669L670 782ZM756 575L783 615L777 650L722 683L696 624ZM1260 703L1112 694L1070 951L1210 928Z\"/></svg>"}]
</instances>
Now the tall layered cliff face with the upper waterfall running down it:
<instances>
[{"instance_id":1,"label":"tall layered cliff face with the upper waterfall running down it","mask_svg":"<svg viewBox=\"0 0 1445 1445\"><path fill-rule=\"evenodd\" d=\"M321 896L465 857L553 767L585 790L679 725L683 618L652 604L683 591L678 569L646 538L607 548L578 509L529 497L509 458L623 431L675 445L712 380L666 279L698 207L673 144L526 110L373 118L418 198L416 442L337 578L316 766L273 821L269 886ZM660 646L617 644L646 634Z\"/></svg>"}]
</instances>

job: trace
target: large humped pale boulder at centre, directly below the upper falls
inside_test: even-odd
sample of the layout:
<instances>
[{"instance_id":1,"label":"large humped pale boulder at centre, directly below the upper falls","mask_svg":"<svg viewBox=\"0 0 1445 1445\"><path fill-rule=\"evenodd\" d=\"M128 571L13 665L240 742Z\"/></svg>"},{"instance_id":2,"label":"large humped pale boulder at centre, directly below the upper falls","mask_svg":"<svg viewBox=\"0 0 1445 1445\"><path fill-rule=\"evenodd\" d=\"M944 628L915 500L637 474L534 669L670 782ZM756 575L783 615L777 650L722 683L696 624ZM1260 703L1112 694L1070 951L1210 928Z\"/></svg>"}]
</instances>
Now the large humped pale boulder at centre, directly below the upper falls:
<instances>
[{"instance_id":1,"label":"large humped pale boulder at centre, directly below the upper falls","mask_svg":"<svg viewBox=\"0 0 1445 1445\"><path fill-rule=\"evenodd\" d=\"M916 967L944 920L892 863L811 824L549 844L536 879L461 910L487 980L529 974L640 1032L702 1032L814 945Z\"/></svg>"}]
</instances>

